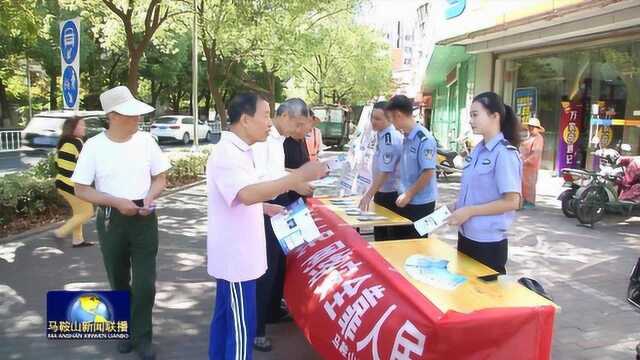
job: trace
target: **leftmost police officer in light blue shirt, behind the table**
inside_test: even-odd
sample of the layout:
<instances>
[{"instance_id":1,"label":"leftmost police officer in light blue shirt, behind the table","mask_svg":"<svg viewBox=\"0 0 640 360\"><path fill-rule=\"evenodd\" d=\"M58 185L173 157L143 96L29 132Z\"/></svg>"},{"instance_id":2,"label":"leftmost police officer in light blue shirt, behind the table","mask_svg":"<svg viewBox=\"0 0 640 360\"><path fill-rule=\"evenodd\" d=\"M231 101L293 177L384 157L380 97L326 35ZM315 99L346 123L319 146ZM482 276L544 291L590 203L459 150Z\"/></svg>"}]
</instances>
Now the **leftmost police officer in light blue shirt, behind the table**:
<instances>
[{"instance_id":1,"label":"leftmost police officer in light blue shirt, behind the table","mask_svg":"<svg viewBox=\"0 0 640 360\"><path fill-rule=\"evenodd\" d=\"M360 200L360 209L369 210L373 202L397 212L399 162L402 154L402 134L391 124L386 112L387 102L373 105L371 127L377 131L376 153L373 156L373 183ZM376 241L396 239L392 226L377 226L373 229Z\"/></svg>"}]
</instances>

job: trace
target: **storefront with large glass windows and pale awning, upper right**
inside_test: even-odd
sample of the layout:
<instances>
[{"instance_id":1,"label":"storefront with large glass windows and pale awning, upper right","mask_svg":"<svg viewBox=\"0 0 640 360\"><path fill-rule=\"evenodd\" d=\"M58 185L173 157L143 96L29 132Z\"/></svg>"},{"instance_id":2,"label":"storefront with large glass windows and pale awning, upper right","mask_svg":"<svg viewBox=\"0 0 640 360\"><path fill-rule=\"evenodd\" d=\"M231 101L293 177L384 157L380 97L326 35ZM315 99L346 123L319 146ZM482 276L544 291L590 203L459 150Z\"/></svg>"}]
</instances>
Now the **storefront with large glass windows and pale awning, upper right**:
<instances>
[{"instance_id":1,"label":"storefront with large glass windows and pale awning, upper right","mask_svg":"<svg viewBox=\"0 0 640 360\"><path fill-rule=\"evenodd\" d=\"M640 153L638 1L463 3L455 16L447 2L430 8L434 50L423 91L433 96L432 130L443 145L464 132L473 96L492 90L525 124L541 120L543 168L592 168L600 146Z\"/></svg>"}]
</instances>

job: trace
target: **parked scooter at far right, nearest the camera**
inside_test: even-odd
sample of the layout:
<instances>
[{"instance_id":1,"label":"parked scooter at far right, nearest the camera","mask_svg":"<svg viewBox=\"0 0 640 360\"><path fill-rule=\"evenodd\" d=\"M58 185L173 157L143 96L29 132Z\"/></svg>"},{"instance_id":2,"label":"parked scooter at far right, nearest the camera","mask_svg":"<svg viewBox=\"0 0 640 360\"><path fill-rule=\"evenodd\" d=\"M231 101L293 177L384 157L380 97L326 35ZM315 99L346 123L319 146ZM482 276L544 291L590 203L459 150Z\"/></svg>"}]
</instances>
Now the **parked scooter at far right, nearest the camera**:
<instances>
[{"instance_id":1,"label":"parked scooter at far right, nearest the camera","mask_svg":"<svg viewBox=\"0 0 640 360\"><path fill-rule=\"evenodd\" d=\"M630 150L630 146L625 145L622 149ZM621 160L628 160L628 158L621 157L616 150L612 149L598 150L596 155L611 163L612 167L593 173L591 183L577 194L576 217L581 224L589 226L602 220L606 212L630 217L636 210L640 210L640 199L634 201L635 199L620 198L625 187L634 185L623 183L627 165L630 162Z\"/></svg>"}]
</instances>

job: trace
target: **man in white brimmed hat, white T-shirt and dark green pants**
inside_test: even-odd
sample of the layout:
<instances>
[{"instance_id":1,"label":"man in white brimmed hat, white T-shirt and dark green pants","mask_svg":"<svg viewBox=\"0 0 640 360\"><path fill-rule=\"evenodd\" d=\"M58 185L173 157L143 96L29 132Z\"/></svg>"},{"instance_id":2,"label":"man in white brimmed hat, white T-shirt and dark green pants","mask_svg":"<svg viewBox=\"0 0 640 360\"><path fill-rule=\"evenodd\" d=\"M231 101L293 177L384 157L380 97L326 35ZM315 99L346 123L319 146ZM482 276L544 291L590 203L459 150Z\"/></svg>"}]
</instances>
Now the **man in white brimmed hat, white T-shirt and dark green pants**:
<instances>
[{"instance_id":1,"label":"man in white brimmed hat, white T-shirt and dark green pants","mask_svg":"<svg viewBox=\"0 0 640 360\"><path fill-rule=\"evenodd\" d=\"M118 351L135 348L141 359L154 359L154 201L166 187L165 172L171 165L151 135L138 131L141 115L153 107L136 100L124 86L105 91L100 102L109 129L84 145L72 179L76 195L98 205L96 227L111 288L131 294L131 340L119 343Z\"/></svg>"}]
</instances>

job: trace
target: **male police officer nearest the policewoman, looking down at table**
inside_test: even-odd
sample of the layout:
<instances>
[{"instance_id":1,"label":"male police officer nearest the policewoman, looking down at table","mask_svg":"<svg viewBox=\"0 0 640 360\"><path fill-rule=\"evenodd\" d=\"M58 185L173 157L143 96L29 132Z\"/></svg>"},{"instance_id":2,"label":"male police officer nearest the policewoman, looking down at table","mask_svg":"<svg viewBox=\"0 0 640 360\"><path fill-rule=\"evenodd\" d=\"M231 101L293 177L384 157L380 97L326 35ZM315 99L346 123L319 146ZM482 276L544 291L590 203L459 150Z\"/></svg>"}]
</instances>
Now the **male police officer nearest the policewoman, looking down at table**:
<instances>
[{"instance_id":1,"label":"male police officer nearest the policewoman, looking down at table","mask_svg":"<svg viewBox=\"0 0 640 360\"><path fill-rule=\"evenodd\" d=\"M433 212L438 198L436 139L413 119L413 101L408 97L392 97L387 111L391 114L393 125L404 134L400 158L400 195L396 200L398 214L415 222ZM421 237L413 225L396 227L395 232L397 239Z\"/></svg>"}]
</instances>

